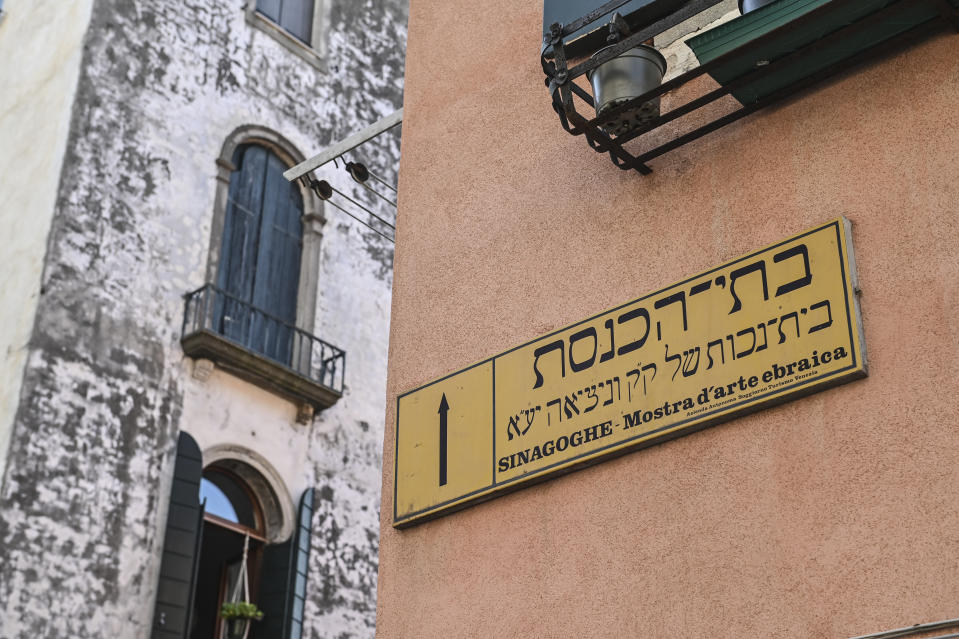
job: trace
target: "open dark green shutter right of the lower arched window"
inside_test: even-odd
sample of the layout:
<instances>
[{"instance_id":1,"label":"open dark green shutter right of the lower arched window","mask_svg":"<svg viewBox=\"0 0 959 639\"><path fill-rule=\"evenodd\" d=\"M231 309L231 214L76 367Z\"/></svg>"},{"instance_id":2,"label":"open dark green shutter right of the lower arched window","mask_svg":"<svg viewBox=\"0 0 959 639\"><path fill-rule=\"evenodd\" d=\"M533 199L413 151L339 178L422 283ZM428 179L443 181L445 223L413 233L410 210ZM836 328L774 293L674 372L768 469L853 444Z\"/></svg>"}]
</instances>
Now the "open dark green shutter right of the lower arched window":
<instances>
[{"instance_id":1,"label":"open dark green shutter right of the lower arched window","mask_svg":"<svg viewBox=\"0 0 959 639\"><path fill-rule=\"evenodd\" d=\"M257 605L263 621L254 624L252 639L300 639L309 571L313 489L300 498L296 530L289 541L267 546Z\"/></svg>"}]
</instances>

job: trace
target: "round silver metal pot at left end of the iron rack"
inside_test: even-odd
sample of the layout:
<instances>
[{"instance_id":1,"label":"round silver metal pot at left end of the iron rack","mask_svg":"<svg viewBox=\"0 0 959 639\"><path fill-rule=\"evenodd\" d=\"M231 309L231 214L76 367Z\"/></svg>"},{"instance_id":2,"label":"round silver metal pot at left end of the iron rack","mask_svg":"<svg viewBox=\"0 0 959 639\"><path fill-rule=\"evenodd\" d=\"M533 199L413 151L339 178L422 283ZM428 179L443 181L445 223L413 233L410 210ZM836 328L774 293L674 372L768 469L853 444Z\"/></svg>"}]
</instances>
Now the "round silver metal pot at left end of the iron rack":
<instances>
[{"instance_id":1,"label":"round silver metal pot at left end of the iron rack","mask_svg":"<svg viewBox=\"0 0 959 639\"><path fill-rule=\"evenodd\" d=\"M600 49L593 57L604 50ZM666 58L647 45L639 45L604 62L587 74L593 87L596 115L602 117L610 109L655 89L662 84L665 74ZM658 117L659 97L656 97L600 124L610 135L622 135Z\"/></svg>"}]
</instances>

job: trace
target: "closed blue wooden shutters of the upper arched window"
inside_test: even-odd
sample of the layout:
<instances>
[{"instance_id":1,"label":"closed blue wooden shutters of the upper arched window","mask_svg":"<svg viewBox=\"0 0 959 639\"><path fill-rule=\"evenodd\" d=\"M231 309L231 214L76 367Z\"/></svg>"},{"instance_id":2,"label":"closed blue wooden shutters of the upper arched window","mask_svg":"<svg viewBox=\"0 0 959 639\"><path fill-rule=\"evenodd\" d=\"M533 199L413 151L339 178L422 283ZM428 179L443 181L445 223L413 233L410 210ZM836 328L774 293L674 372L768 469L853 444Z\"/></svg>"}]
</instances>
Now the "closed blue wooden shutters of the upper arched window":
<instances>
[{"instance_id":1,"label":"closed blue wooden shutters of the upper arched window","mask_svg":"<svg viewBox=\"0 0 959 639\"><path fill-rule=\"evenodd\" d=\"M233 153L217 287L218 332L252 351L289 363L293 353L303 196L283 177L270 149L241 144Z\"/></svg>"}]
</instances>

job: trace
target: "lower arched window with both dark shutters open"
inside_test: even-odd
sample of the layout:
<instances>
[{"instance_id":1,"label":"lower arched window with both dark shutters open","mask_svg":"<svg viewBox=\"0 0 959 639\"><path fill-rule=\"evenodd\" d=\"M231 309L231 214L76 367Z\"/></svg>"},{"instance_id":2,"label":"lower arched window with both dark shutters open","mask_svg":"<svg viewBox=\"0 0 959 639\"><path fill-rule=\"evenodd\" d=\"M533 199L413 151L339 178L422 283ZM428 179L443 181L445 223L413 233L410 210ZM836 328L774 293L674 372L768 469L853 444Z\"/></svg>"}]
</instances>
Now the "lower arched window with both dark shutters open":
<instances>
[{"instance_id":1,"label":"lower arched window with both dark shutters open","mask_svg":"<svg viewBox=\"0 0 959 639\"><path fill-rule=\"evenodd\" d=\"M269 464L252 451L229 450L243 459L224 456L223 447L201 454L180 433L153 639L224 639L219 611L235 596L264 613L247 639L301 639L313 489L303 492L296 511ZM205 468L204 456L213 459ZM245 597L235 594L242 593L244 547Z\"/></svg>"}]
</instances>

